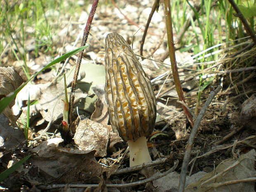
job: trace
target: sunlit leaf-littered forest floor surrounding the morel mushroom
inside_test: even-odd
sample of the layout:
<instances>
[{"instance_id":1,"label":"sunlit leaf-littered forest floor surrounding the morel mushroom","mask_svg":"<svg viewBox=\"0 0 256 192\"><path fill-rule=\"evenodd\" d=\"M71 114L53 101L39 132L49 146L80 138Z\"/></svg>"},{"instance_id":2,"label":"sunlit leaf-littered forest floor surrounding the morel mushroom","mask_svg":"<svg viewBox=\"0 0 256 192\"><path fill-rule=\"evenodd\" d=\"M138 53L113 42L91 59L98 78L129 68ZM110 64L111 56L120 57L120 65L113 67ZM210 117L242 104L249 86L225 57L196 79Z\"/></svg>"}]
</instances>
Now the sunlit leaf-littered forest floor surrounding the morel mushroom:
<instances>
[{"instance_id":1,"label":"sunlit leaf-littered forest floor surrounding the morel mushroom","mask_svg":"<svg viewBox=\"0 0 256 192\"><path fill-rule=\"evenodd\" d=\"M65 97L63 72L66 73L69 94L78 54L71 56L66 62L60 62L43 71L18 93L15 105L12 107L15 115L19 114L20 109L22 110L17 123L18 129L13 126L10 128L11 122L1 114L0 172L32 154L26 163L2 181L2 190L31 192L107 191L107 189L116 192L178 190L178 177L192 127L186 119L181 104L177 102L178 95L173 86L172 74L169 73L171 63L168 57L163 3L160 4L159 11L154 14L145 39L143 56L149 59L142 61L141 57L137 57L152 80L157 97L156 126L147 143L153 160L151 168L129 170L127 144L118 134L113 133L110 125L107 125L109 119L104 99L105 37L108 33L119 33L132 46L133 52L140 55L140 41L152 4L153 1L147 0L128 1L119 2L118 5L100 4L97 8L86 43L89 47L84 51L78 76L76 109L73 109L74 122L70 127L73 137L71 141L62 139L62 99ZM36 52L37 43L33 38L25 39L24 46L17 45L21 52L26 53L26 66L31 76L54 58L80 46L89 12L90 6L76 17L72 17L71 21L68 19L70 17L68 13L58 17L57 22L61 25L50 38L51 47L42 44ZM50 25L55 24L51 18L57 17L55 15L58 14L59 12L55 10L47 11L46 17ZM173 15L175 14L178 12L173 12ZM213 18L211 22L214 22ZM201 31L199 27L197 28L199 36ZM33 33L31 28L26 30L25 33ZM256 47L244 49L251 42L249 38L244 40L244 44L241 43L239 48L222 45L220 49L222 52L218 57L204 64L204 61L199 59L201 55L193 57L195 50L192 45L198 42L190 37L191 31L192 26L183 34L183 40L175 44L178 71L187 106L197 116L210 95L210 86L217 88L221 85L222 89L207 108L191 150L186 186L199 183L195 184L196 187L188 187L185 191L234 191L233 189L254 191L255 179L249 180L249 178L256 176L254 169ZM179 37L174 31L174 42L177 42ZM18 39L19 35L14 38ZM188 45L184 45L186 38L190 39ZM200 36L199 42L203 47L203 39ZM17 61L13 50L18 52L17 47L8 44L2 52L2 67L17 68L24 64L21 60ZM204 67L201 68L200 64ZM24 81L28 80L25 73L23 78ZM201 85L200 81L203 82ZM200 100L198 100L199 85ZM28 122L28 93L30 102L34 104L29 107L27 142L24 127ZM247 157L244 157L244 154ZM174 172L154 179L151 185L143 183L123 186L125 183L143 182L146 178L152 178L160 172L164 173L177 160L178 165ZM248 162L244 163L244 161ZM223 164L225 166L221 167ZM206 173L209 175L200 181L199 179ZM216 178L213 178L214 175L217 175ZM202 187L201 183L207 179L209 185L204 184ZM220 185L221 182L242 179L248 180L237 181L237 184ZM117 186L109 187L112 184ZM218 186L212 186L213 184Z\"/></svg>"}]
</instances>

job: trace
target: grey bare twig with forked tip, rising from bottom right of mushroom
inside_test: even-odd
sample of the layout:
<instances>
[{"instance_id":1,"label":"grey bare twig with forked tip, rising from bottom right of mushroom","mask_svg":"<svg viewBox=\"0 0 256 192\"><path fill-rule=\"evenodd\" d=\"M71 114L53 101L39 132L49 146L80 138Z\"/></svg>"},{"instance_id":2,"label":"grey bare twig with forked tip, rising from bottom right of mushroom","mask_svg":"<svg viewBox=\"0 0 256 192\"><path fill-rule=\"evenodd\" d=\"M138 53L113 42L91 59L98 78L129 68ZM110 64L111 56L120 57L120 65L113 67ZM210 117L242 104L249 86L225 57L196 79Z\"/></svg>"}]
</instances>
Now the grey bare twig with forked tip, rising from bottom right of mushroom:
<instances>
[{"instance_id":1,"label":"grey bare twig with forked tip, rising from bottom right of mushroom","mask_svg":"<svg viewBox=\"0 0 256 192\"><path fill-rule=\"evenodd\" d=\"M203 108L201 109L199 115L197 116L197 120L194 123L194 127L192 128L190 138L188 139L187 147L186 147L186 150L185 150L185 155L184 155L184 158L183 158L183 164L182 164L182 169L181 169L181 173L180 173L180 181L179 181L179 188L178 188L179 192L184 191L186 174L187 174L187 167L188 167L189 160L190 160L190 153L191 153L191 149L193 147L194 139L195 139L196 134L197 134L197 130L199 128L199 124L203 119L203 116L206 112L207 107L211 104L211 101L217 95L217 93L221 90L221 88L222 88L221 86L218 86L218 88L216 88L216 90L214 90L213 87L211 87L210 96L206 100Z\"/></svg>"}]
</instances>

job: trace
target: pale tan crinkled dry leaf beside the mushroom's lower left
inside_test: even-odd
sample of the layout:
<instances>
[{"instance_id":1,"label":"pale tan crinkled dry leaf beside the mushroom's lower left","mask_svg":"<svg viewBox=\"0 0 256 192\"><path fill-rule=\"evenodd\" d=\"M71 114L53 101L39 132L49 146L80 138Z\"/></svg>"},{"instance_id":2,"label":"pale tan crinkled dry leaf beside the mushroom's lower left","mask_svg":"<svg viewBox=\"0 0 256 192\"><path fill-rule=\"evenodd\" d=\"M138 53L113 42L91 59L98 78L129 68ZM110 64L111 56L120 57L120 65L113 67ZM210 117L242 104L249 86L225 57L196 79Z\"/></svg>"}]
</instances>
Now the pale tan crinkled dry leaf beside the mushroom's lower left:
<instances>
[{"instance_id":1,"label":"pale tan crinkled dry leaf beside the mushroom's lower left","mask_svg":"<svg viewBox=\"0 0 256 192\"><path fill-rule=\"evenodd\" d=\"M109 127L90 119L83 119L79 122L73 139L80 149L96 150L95 156L106 156L108 146L122 141Z\"/></svg>"}]
</instances>

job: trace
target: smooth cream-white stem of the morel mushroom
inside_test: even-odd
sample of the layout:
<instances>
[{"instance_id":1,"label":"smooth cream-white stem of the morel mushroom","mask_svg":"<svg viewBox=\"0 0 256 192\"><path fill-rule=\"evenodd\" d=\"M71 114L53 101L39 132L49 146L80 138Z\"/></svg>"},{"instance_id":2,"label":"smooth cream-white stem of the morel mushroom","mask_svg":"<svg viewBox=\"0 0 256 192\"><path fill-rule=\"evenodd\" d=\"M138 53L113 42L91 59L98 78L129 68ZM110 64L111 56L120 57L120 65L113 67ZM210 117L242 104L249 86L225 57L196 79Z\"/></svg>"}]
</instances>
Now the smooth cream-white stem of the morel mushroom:
<instances>
[{"instance_id":1,"label":"smooth cream-white stem of the morel mushroom","mask_svg":"<svg viewBox=\"0 0 256 192\"><path fill-rule=\"evenodd\" d=\"M135 142L128 140L128 146L130 149L130 167L152 161L147 149L146 137L140 137Z\"/></svg>"}]
</instances>

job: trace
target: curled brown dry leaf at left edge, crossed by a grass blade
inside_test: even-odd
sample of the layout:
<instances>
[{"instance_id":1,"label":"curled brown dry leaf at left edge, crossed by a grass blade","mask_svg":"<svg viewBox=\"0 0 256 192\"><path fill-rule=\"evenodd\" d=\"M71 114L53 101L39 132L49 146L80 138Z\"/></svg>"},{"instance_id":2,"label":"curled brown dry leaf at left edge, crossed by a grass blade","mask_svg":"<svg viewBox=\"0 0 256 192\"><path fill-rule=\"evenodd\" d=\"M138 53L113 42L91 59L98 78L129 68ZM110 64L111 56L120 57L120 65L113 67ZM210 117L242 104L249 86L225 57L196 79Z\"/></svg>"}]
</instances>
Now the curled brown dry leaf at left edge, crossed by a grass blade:
<instances>
[{"instance_id":1,"label":"curled brown dry leaf at left edge, crossed by a grass blade","mask_svg":"<svg viewBox=\"0 0 256 192\"><path fill-rule=\"evenodd\" d=\"M15 69L14 67L0 67L0 98L6 97L8 94L16 90L19 85L23 83L23 70L22 68ZM9 103L9 106L5 108L3 113L8 117L13 126L16 125L16 121L19 116L13 115L11 110L15 100Z\"/></svg>"}]
</instances>

